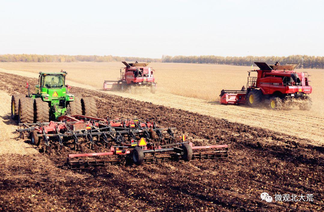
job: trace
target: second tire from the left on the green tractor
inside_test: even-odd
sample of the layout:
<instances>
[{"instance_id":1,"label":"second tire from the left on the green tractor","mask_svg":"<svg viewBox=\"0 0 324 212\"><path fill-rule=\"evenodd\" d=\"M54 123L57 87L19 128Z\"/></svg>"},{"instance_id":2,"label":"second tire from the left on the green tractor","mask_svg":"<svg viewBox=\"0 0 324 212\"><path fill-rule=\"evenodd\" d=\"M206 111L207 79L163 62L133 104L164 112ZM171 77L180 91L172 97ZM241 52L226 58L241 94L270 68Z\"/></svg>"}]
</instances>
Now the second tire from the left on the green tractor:
<instances>
[{"instance_id":1,"label":"second tire from the left on the green tractor","mask_svg":"<svg viewBox=\"0 0 324 212\"><path fill-rule=\"evenodd\" d=\"M34 122L34 99L29 97L22 97L19 99L18 122L19 123Z\"/></svg>"}]
</instances>

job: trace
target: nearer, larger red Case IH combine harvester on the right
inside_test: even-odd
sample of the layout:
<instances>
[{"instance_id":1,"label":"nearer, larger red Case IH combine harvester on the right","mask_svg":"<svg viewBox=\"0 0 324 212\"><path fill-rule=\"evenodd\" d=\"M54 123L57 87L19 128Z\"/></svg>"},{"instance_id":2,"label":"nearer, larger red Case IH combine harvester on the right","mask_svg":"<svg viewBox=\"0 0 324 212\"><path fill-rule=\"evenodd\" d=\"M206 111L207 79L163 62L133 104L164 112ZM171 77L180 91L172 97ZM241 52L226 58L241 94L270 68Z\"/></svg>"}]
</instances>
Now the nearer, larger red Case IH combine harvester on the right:
<instances>
[{"instance_id":1,"label":"nearer, larger red Case IH combine harvester on the right","mask_svg":"<svg viewBox=\"0 0 324 212\"><path fill-rule=\"evenodd\" d=\"M221 104L248 104L255 107L264 103L271 109L282 109L296 102L300 109L310 109L311 100L308 96L312 92L309 85L310 75L307 72L294 71L299 63L268 65L265 62L255 62L255 64L260 70L249 71L246 89L222 90L219 95ZM251 72L257 72L258 76L250 77Z\"/></svg>"}]
</instances>

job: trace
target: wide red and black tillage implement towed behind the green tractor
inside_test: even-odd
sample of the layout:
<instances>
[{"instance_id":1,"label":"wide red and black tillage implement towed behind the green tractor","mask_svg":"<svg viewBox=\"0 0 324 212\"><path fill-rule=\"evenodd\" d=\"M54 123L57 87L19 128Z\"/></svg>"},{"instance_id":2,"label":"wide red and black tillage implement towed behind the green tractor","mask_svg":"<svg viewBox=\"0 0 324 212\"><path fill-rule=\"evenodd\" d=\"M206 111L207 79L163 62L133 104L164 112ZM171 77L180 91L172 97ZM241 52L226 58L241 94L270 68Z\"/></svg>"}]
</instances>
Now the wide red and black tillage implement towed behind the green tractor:
<instances>
[{"instance_id":1,"label":"wide red and black tillage implement towed behind the green tractor","mask_svg":"<svg viewBox=\"0 0 324 212\"><path fill-rule=\"evenodd\" d=\"M139 119L110 120L82 115L61 116L58 121L20 123L16 130L22 138L27 134L30 143L44 142L44 151L52 147L66 152L73 145L77 154L68 154L71 169L105 164L131 164L162 161L190 161L192 159L227 158L227 145L193 146L185 135L176 136L176 128L158 128L154 121ZM98 151L98 146L109 151L84 153L84 145ZM213 149L211 151L197 151Z\"/></svg>"}]
</instances>

